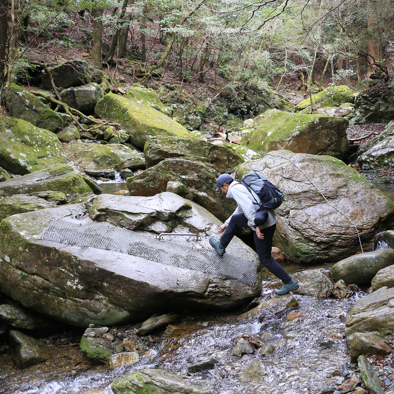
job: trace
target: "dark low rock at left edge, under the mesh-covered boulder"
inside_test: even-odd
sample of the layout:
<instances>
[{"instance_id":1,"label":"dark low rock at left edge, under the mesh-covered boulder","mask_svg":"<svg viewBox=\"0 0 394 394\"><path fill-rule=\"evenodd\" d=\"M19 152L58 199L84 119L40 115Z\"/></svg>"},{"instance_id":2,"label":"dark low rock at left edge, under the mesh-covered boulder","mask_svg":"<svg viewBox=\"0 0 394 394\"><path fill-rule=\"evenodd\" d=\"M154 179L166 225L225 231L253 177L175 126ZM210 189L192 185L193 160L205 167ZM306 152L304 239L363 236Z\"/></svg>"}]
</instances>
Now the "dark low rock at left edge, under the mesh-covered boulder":
<instances>
[{"instance_id":1,"label":"dark low rock at left edge, under the mesh-covered boulder","mask_svg":"<svg viewBox=\"0 0 394 394\"><path fill-rule=\"evenodd\" d=\"M0 305L0 321L18 329L50 329L54 322L43 319L29 310L17 305Z\"/></svg>"}]
</instances>

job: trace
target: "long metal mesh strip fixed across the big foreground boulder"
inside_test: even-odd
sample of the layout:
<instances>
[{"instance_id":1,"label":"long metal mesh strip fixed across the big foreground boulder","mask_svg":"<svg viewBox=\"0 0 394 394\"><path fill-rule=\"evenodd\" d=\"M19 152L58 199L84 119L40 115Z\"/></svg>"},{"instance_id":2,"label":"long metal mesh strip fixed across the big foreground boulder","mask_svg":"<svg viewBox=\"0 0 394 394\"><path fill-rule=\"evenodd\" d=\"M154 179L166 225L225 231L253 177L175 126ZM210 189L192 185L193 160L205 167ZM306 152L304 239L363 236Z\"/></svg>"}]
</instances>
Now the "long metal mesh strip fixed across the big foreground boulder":
<instances>
[{"instance_id":1,"label":"long metal mesh strip fixed across the big foreground boulder","mask_svg":"<svg viewBox=\"0 0 394 394\"><path fill-rule=\"evenodd\" d=\"M43 231L39 239L74 247L91 246L113 250L163 264L226 275L250 286L255 285L255 262L253 260L229 253L219 257L210 249L197 249L179 243L160 241L153 235L149 236L106 223L82 225L55 219Z\"/></svg>"}]
</instances>

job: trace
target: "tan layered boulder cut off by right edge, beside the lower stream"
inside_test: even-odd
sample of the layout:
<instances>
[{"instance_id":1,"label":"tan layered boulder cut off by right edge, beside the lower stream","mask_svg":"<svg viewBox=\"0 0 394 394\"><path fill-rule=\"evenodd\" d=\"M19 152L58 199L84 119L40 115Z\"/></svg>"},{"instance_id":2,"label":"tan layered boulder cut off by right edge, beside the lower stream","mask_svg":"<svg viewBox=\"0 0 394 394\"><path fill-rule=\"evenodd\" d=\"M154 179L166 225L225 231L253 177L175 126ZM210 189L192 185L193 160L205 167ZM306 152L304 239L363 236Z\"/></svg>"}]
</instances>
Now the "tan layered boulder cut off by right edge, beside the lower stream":
<instances>
[{"instance_id":1,"label":"tan layered boulder cut off by right edge, beside the lower stream","mask_svg":"<svg viewBox=\"0 0 394 394\"><path fill-rule=\"evenodd\" d=\"M346 318L348 344L355 333L388 335L394 332L394 288L381 288L360 298Z\"/></svg>"}]
</instances>

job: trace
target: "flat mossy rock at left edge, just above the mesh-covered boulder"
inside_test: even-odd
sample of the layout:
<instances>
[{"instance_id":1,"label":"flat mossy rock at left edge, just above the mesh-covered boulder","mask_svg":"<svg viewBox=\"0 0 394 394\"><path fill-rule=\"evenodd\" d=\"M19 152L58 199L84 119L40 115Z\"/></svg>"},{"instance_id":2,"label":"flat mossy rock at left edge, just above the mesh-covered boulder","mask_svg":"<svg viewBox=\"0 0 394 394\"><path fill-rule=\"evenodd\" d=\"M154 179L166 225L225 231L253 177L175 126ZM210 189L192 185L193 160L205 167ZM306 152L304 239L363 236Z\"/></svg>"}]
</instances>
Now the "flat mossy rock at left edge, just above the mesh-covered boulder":
<instances>
[{"instance_id":1,"label":"flat mossy rock at left edge, just above the mesh-covered boulder","mask_svg":"<svg viewBox=\"0 0 394 394\"><path fill-rule=\"evenodd\" d=\"M10 197L0 198L0 220L7 216L37 209L55 208L65 203L67 203L67 197L59 191L38 192L30 195L14 194Z\"/></svg>"}]
</instances>

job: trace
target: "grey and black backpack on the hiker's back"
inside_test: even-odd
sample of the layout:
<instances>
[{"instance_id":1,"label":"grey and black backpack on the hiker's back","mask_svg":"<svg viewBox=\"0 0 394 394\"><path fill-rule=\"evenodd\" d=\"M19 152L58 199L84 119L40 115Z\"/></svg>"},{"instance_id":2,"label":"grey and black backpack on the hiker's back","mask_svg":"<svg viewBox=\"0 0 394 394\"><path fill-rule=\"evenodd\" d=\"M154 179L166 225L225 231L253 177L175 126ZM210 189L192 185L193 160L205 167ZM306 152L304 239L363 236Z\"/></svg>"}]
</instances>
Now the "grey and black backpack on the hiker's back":
<instances>
[{"instance_id":1,"label":"grey and black backpack on the hiker's back","mask_svg":"<svg viewBox=\"0 0 394 394\"><path fill-rule=\"evenodd\" d=\"M249 190L249 193L253 190L257 194L260 199L260 203L256 201L251 193L253 199L256 201L256 203L253 204L257 204L259 206L258 210L275 209L282 204L284 194L269 182L264 175L256 171L251 171L250 173L243 175L241 183L247 188L247 190Z\"/></svg>"}]
</instances>

